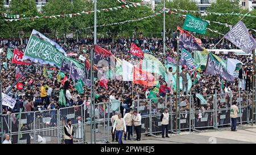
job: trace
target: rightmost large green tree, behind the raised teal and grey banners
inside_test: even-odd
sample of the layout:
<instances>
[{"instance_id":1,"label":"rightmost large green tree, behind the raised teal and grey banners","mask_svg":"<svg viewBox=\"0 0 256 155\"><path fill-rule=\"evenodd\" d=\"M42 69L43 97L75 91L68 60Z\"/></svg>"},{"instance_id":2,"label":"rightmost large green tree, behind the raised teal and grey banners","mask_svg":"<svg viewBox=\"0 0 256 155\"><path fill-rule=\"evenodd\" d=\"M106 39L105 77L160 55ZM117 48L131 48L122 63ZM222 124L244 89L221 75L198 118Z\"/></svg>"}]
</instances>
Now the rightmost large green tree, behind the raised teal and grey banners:
<instances>
[{"instance_id":1,"label":"rightmost large green tree, behind the raised teal and grey banners","mask_svg":"<svg viewBox=\"0 0 256 155\"><path fill-rule=\"evenodd\" d=\"M239 0L217 0L216 3L212 3L212 5L208 8L209 12L220 12L220 13L241 13L243 10L240 7ZM220 23L228 23L230 25L235 25L242 17L235 15L214 15L208 14L203 17L206 20L210 21L218 21ZM217 30L222 34L227 33L230 29L229 27L225 27L225 25L214 24L211 23L208 26L210 29ZM218 33L213 33L207 31L206 36L218 36Z\"/></svg>"}]
</instances>

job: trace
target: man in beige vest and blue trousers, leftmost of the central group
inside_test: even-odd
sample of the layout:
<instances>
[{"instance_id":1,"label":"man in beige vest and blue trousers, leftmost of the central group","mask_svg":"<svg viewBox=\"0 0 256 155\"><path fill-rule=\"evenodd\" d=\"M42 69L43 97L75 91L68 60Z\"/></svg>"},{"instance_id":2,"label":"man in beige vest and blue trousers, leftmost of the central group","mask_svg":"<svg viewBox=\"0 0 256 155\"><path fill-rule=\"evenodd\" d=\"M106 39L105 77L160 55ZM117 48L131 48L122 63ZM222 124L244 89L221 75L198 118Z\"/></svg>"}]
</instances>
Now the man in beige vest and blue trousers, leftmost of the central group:
<instances>
[{"instance_id":1,"label":"man in beige vest and blue trousers, leftmost of the central group","mask_svg":"<svg viewBox=\"0 0 256 155\"><path fill-rule=\"evenodd\" d=\"M116 135L118 136L118 144L123 144L122 136L123 131L125 131L126 134L126 124L125 119L122 118L122 114L118 113L118 118L115 119L112 134L116 132Z\"/></svg>"}]
</instances>

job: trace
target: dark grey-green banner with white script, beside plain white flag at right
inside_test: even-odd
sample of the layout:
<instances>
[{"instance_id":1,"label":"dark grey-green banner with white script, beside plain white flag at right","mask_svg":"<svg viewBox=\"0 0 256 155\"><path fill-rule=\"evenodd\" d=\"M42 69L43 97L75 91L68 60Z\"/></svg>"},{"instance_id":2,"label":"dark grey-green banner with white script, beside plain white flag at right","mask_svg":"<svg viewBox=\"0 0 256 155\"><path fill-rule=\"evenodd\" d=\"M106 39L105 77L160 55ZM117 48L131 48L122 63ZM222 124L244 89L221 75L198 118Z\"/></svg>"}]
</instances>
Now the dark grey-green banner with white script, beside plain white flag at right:
<instances>
[{"instance_id":1,"label":"dark grey-green banner with white script, beside plain white flag at right","mask_svg":"<svg viewBox=\"0 0 256 155\"><path fill-rule=\"evenodd\" d=\"M234 81L233 75L230 75L228 73L227 62L224 59L221 59L217 57L217 55L214 55L212 53L209 53L205 73L210 75L220 75L221 78L225 80Z\"/></svg>"}]
</instances>

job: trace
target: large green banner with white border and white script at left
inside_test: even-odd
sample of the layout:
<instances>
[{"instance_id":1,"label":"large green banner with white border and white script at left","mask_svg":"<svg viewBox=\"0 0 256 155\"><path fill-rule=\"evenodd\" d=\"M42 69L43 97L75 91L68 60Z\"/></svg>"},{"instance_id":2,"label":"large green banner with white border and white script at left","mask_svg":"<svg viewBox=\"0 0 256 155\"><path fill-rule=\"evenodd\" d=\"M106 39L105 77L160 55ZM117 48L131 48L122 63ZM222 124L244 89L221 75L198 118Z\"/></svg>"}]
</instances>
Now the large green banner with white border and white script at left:
<instances>
[{"instance_id":1,"label":"large green banner with white border and white script at left","mask_svg":"<svg viewBox=\"0 0 256 155\"><path fill-rule=\"evenodd\" d=\"M40 65L60 68L64 55L67 56L60 45L33 29L23 61L29 60Z\"/></svg>"}]
</instances>

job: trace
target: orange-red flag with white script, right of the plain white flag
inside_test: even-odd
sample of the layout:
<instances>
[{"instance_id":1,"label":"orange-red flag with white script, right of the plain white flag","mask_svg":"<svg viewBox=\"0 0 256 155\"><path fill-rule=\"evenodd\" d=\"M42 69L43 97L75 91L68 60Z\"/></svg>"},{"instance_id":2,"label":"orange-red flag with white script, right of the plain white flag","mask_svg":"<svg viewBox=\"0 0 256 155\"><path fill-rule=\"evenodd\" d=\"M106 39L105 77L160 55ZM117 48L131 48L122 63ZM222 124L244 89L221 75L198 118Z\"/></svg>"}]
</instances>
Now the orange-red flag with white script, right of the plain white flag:
<instances>
[{"instance_id":1,"label":"orange-red flag with white script, right of the plain white flag","mask_svg":"<svg viewBox=\"0 0 256 155\"><path fill-rule=\"evenodd\" d=\"M133 70L133 83L147 85L148 87L154 86L155 77L150 73L143 71L140 68L134 67Z\"/></svg>"}]
</instances>

